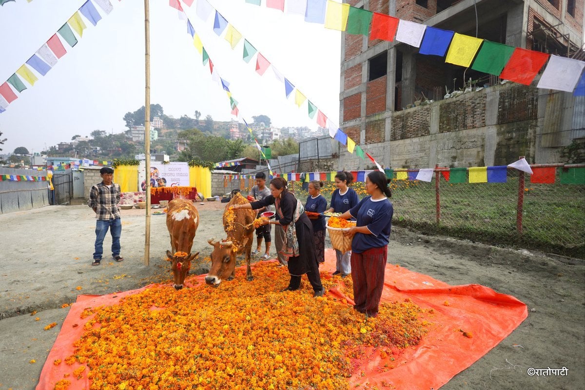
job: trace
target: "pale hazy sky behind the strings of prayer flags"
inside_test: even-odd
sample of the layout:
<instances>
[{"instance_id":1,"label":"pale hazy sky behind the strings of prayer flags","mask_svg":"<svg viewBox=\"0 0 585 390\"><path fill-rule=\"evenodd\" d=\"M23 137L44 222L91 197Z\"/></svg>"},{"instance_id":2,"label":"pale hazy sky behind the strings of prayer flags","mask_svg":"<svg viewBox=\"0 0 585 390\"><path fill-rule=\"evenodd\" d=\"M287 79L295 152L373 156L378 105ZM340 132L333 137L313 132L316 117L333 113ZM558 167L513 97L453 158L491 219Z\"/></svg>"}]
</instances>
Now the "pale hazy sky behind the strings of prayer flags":
<instances>
[{"instance_id":1,"label":"pale hazy sky behind the strings of prayer flags","mask_svg":"<svg viewBox=\"0 0 585 390\"><path fill-rule=\"evenodd\" d=\"M0 7L0 84L7 80L70 18L85 0L16 0ZM93 130L121 133L128 111L144 105L144 2L111 0L113 11L102 15L97 26L84 19L87 29L75 47L62 40L67 54L44 77L0 114L2 138L8 140L0 153L25 146L39 152L74 134L88 136ZM278 71L295 84L333 122L339 117L340 36L323 25L307 23L302 16L282 13L245 0L210 0L222 15L249 40ZM205 50L219 75L230 83L239 102L240 118L268 115L275 126L309 126L307 103L300 109L294 94L287 101L284 85L271 69L255 72L256 57L242 60L243 39L232 50L212 30L214 18L203 22L195 5L184 6L201 36ZM264 2L263 2L264 4ZM82 17L83 18L83 17ZM211 79L209 67L192 44L190 34L168 0L150 1L151 102L166 115L215 120L235 118L229 100ZM34 71L33 71L34 72Z\"/></svg>"}]
</instances>

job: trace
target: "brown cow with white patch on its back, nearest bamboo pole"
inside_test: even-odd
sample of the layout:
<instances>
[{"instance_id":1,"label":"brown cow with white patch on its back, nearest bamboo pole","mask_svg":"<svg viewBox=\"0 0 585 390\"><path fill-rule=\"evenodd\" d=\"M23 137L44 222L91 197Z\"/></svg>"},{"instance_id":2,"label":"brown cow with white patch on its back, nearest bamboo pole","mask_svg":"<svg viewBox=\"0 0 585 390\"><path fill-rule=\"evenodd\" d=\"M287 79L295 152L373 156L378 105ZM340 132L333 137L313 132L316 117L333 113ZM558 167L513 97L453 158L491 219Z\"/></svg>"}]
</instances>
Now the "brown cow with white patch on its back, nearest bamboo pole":
<instances>
[{"instance_id":1,"label":"brown cow with white patch on its back, nearest bamboo pole","mask_svg":"<svg viewBox=\"0 0 585 390\"><path fill-rule=\"evenodd\" d=\"M193 203L187 199L173 199L168 202L167 228L171 236L171 251L167 250L167 257L173 262L174 288L183 288L185 276L191 268L193 260L199 252L191 254L195 232L199 226L199 213ZM177 252L183 252L186 256L174 256Z\"/></svg>"}]
</instances>

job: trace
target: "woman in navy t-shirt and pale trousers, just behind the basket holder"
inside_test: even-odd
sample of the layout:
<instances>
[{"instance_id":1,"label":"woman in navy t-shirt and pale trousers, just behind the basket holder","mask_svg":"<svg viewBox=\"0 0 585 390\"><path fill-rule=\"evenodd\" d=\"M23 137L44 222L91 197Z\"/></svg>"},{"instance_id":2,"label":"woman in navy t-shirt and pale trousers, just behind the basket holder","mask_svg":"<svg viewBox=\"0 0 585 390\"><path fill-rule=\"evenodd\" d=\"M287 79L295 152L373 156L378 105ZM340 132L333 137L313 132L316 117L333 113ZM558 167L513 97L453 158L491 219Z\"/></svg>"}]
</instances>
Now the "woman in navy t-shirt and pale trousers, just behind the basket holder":
<instances>
[{"instance_id":1,"label":"woman in navy t-shirt and pale trousers, just behind the basket holder","mask_svg":"<svg viewBox=\"0 0 585 390\"><path fill-rule=\"evenodd\" d=\"M331 194L331 206L328 210L329 212L345 213L359 203L360 199L357 198L356 192L353 191L353 188L348 187L352 184L352 181L353 175L350 174L350 172L337 172L335 175L335 186L337 189ZM350 264L352 251L348 250L346 253L342 253L336 249L335 256L337 257L337 261L335 263L335 272L333 272L333 276L341 274L341 277L345 278L352 273L352 265Z\"/></svg>"}]
</instances>

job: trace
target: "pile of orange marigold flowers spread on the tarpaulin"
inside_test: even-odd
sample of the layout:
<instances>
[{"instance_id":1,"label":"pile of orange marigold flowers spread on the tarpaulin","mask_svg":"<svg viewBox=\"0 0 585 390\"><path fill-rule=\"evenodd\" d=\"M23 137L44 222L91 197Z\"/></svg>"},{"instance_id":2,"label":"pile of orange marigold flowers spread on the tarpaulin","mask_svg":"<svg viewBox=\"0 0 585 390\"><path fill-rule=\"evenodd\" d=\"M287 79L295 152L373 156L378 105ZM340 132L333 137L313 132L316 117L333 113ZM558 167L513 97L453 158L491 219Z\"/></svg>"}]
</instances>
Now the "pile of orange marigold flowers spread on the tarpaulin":
<instances>
[{"instance_id":1,"label":"pile of orange marigold flowers spread on the tarpaulin","mask_svg":"<svg viewBox=\"0 0 585 390\"><path fill-rule=\"evenodd\" d=\"M257 264L253 282L240 269L218 288L188 279L194 287L153 285L116 305L86 308L85 332L64 361L87 365L91 389L339 390L369 358L366 348L392 356L418 344L428 327L408 300L384 303L366 320L345 299L312 298L308 284L278 292L288 274L273 263ZM339 280L324 273L322 282L329 289ZM344 283L352 296L351 281Z\"/></svg>"}]
</instances>

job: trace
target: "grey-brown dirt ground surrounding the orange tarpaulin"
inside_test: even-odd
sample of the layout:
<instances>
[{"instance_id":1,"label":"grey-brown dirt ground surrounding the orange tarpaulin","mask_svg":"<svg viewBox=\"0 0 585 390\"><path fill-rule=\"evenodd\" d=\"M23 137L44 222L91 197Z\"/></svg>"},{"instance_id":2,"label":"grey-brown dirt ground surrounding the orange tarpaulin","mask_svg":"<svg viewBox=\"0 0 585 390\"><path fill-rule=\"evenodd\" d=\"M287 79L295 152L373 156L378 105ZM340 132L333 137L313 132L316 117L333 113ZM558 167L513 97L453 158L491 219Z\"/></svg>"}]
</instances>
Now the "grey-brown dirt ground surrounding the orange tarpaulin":
<instances>
[{"instance_id":1,"label":"grey-brown dirt ground surrounding the orange tarpaulin","mask_svg":"<svg viewBox=\"0 0 585 390\"><path fill-rule=\"evenodd\" d=\"M201 224L193 251L201 258L211 251L207 239L223 234L223 206L197 203ZM95 219L88 206L0 215L0 390L35 388L67 315L63 303L74 302L78 294L108 294L168 279L166 219L153 215L151 220L149 266L143 264L144 210L132 209L122 210L125 261L106 257L108 236L102 264L91 267ZM510 336L442 389L585 389L583 260L394 228L388 262L451 285L485 285L528 305L528 318ZM43 330L51 322L58 325ZM569 371L566 377L536 377L527 374L531 367Z\"/></svg>"}]
</instances>

